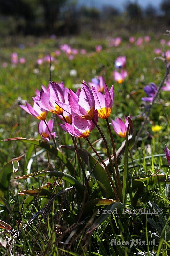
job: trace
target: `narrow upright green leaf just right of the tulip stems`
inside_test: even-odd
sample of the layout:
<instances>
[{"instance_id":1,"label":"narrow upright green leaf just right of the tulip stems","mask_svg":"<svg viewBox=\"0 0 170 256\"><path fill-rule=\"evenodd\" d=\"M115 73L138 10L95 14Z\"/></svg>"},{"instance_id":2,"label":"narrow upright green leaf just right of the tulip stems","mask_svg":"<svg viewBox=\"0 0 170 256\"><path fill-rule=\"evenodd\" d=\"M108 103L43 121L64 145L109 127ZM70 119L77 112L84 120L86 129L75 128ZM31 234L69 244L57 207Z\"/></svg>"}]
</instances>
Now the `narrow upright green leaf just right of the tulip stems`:
<instances>
[{"instance_id":1,"label":"narrow upright green leaf just right of the tulip stems","mask_svg":"<svg viewBox=\"0 0 170 256\"><path fill-rule=\"evenodd\" d=\"M125 156L124 156L124 172L123 172L123 203L126 204L126 191L128 185L128 133L129 133L129 124L126 131L126 142L125 142Z\"/></svg>"}]
</instances>

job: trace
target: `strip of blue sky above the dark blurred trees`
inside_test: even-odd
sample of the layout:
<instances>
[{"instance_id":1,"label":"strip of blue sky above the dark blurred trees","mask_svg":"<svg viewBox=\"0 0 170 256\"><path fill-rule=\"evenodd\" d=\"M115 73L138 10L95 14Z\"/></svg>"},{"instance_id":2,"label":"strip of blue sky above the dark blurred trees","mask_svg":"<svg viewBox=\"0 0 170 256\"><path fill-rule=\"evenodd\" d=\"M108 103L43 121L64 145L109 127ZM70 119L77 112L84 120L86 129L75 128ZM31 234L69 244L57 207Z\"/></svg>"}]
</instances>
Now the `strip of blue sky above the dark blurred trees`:
<instances>
[{"instance_id":1,"label":"strip of blue sky above the dark blurred trees","mask_svg":"<svg viewBox=\"0 0 170 256\"><path fill-rule=\"evenodd\" d=\"M94 6L96 8L101 9L103 5L112 5L116 9L119 9L122 11L124 9L124 6L128 2L136 2L138 3L142 8L145 8L149 4L152 4L156 9L159 9L159 6L162 2L162 0L78 0L78 3L80 5L84 6Z\"/></svg>"}]
</instances>

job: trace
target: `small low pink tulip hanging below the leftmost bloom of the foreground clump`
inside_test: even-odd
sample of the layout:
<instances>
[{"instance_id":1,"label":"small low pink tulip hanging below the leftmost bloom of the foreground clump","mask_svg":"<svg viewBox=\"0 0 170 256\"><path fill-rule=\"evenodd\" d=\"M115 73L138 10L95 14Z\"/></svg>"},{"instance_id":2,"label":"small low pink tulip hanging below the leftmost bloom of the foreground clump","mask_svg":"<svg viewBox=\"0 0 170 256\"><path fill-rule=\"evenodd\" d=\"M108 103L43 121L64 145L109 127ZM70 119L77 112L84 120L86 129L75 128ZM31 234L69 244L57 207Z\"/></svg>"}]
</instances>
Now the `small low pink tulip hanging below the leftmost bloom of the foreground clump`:
<instances>
[{"instance_id":1,"label":"small low pink tulip hanging below the leftmost bloom of the foreground clump","mask_svg":"<svg viewBox=\"0 0 170 256\"><path fill-rule=\"evenodd\" d=\"M48 127L47 127L48 125ZM49 120L47 125L44 121L40 121L38 124L38 133L45 141L50 141L50 139L55 138L56 132L53 131L53 120ZM49 131L48 131L49 128Z\"/></svg>"}]
</instances>

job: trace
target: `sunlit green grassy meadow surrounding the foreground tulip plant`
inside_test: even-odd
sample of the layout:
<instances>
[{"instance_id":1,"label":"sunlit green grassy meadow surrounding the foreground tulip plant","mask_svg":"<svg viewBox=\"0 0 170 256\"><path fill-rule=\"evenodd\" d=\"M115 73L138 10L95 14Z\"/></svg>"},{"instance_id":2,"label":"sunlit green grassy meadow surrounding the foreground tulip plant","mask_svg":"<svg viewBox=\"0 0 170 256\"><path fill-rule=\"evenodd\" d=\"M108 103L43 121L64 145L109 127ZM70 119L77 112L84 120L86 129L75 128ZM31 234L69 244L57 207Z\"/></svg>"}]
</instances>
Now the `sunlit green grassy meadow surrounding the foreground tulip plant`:
<instances>
[{"instance_id":1,"label":"sunlit green grassy meadow surrounding the foreground tulip plant","mask_svg":"<svg viewBox=\"0 0 170 256\"><path fill-rule=\"evenodd\" d=\"M139 36L141 35L135 35L136 38ZM142 37L144 38L144 35L142 35ZM155 35L151 35L151 41L149 43L143 42L143 44L140 46L130 44L128 38L123 38L118 47L110 47L108 45L109 39L85 39L83 37L59 39L9 38L8 41L6 40L6 42L1 43L0 140L12 137L41 139L37 132L38 120L24 112L18 105L23 104L23 102L25 104L25 100L32 104L31 97L35 96L35 89L40 90L42 84L46 87L48 86L50 80L49 62L44 62L42 65L37 63L37 59L43 58L48 53L54 57L51 67L52 81L63 81L65 86L73 89L74 91L76 91L78 87L81 87L81 81L85 80L86 83L88 83L88 81L91 81L93 77L99 75L104 76L105 82L109 88L113 84L114 103L113 110L109 118L115 120L116 117L123 118L124 116L128 116L130 114L133 120L135 132L137 134L144 120L144 116L140 114L145 110L147 111L148 106L148 103L141 100L142 97L146 97L144 86L150 82L153 82L158 86L166 71L165 63L161 60L161 58L156 59L155 57L157 56L154 52L155 48L163 47L165 51L169 49L167 45L164 44L162 46L160 44L161 38L165 38L166 42L168 41L168 38L165 36L156 38ZM73 60L70 60L68 55L62 51L60 56L56 56L55 51L60 50L60 46L65 43L78 50L85 49L86 53L84 55L78 53L74 56ZM4 46L5 44L8 46ZM96 45L102 45L103 48L101 52L95 51ZM24 57L26 62L24 64L17 63L16 65L10 63L11 54L13 52L17 52L18 58ZM119 84L114 81L113 71L115 70L114 64L116 58L123 55L126 56L126 70L128 72L128 76L123 83ZM7 67L2 66L4 62L7 63ZM137 174L137 177L138 175L141 176L143 174L168 174L167 160L162 154L164 154L163 149L165 148L165 144L168 145L170 129L169 113L169 92L161 91L158 99L155 101L152 107L150 118L148 119L144 130L139 137L137 145L131 150L131 155L128 153L128 162L130 163L128 171L129 179L132 178L134 172ZM48 113L48 120L50 116L51 113ZM59 122L59 119L56 121ZM57 131L57 145L72 144L71 137L62 131L57 122L55 127ZM112 145L105 120L100 119L99 124L107 138L107 142L111 150ZM160 129L154 130L153 127L156 125L159 125ZM112 132L114 134L115 148L118 149L121 146L121 143L124 141L124 138L116 135L114 131ZM89 138L91 142L94 142L100 137L101 136L98 130L94 129ZM98 159L92 150L88 148L88 144L83 139L81 143L83 143L82 147L84 149L87 149L95 159ZM107 158L107 151L104 143L100 140L95 146L100 156L103 159ZM31 216L47 205L49 199L48 196L51 195L50 192L49 195L45 194L45 196L39 194L35 194L34 198L32 196L28 196L27 202L24 204L24 209L22 209L22 214L20 215L22 202L26 197L22 195L18 196L18 192L25 189L39 188L42 186L42 184L44 185L48 181L52 183L55 180L53 180L54 177L46 177L45 181L44 178L41 177L35 178L32 179L31 182L27 182L27 180L19 180L18 182L18 180L13 179L16 176L27 174L28 162L31 157L33 157L35 152L39 152L40 154L33 158L31 173L45 170L49 167L46 151L40 152L40 149L40 147L32 144L23 144L22 142L7 143L0 141L1 173L3 172L3 166L8 161L10 161L12 158L25 154L25 156L20 160L20 168L18 173L12 174L11 180L9 177L2 177L0 174L1 185L3 182L5 182L3 179L10 181L7 184L9 188L7 194L6 190L4 190L4 192L0 187L0 196L3 197L5 195L4 198L6 200L5 201L0 198L0 220L10 224L11 227L16 230L18 228L16 221L19 220L19 218L21 221L21 215L22 223L24 224L26 221L30 220ZM64 149L63 152L65 156L72 159L74 162L74 152L71 152L70 150L64 151ZM60 169L61 163L50 152L49 156L51 159L51 166L49 169ZM152 157L147 158L148 156ZM131 159L131 157L133 157L133 159ZM122 157L119 162L121 180L124 172L123 163L124 157ZM88 174L89 167L87 168L86 165L84 167ZM65 165L63 165L62 169L67 168ZM76 167L77 172L78 169L79 168ZM67 171L64 170L64 172ZM83 186L85 185L82 173L79 174L78 180ZM94 177L92 177L89 181L91 190L90 199L99 197L103 198L103 194L101 193L100 189L101 184L96 182L96 180ZM61 191L61 187L67 188L69 186L69 180L63 181L62 186L56 189L55 194ZM61 202L64 202L64 205L58 207L59 213L56 212L55 204L57 204L57 200L59 200L57 199L52 205L52 217L50 213L50 217L47 213L45 214L45 217L39 214L39 220L41 220L40 222L42 225L39 225L38 231L36 226L38 221L36 223L34 222L34 224L32 223L27 230L21 231L20 237L18 238L17 234L16 244L12 247L13 251L11 252L13 254L9 254L10 252L8 249L6 255L20 255L16 253L25 255L61 255L63 253L63 255L67 255L71 252L73 253L72 255L83 255L82 253L84 253L84 255L118 255L118 251L120 255L135 255L133 253L138 253L140 251L149 252L152 250L157 252L159 244L163 244L162 247L160 247L162 250L162 255L168 255L168 240L170 239L169 226L166 223L169 215L168 186L169 185L166 185L165 187L165 183L161 185L157 184L156 186L147 184L139 198L134 199L137 200L135 205L140 208L146 208L148 205L151 205L151 202L154 202L156 204L155 207L163 209L164 214L155 215L152 217L149 216L148 222L146 221L148 216L146 217L145 215L135 217L130 216L127 217L126 220L122 218L122 226L125 223L128 223L128 230L124 230L121 223L119 223L117 219L112 220L111 217L109 217L105 222L101 222L103 224L101 224L92 235L85 235L85 225L92 216L93 212L83 213L82 218L82 215L79 215L79 207L85 204L85 202L80 202L78 199L76 199L76 193L73 194L70 192L70 195L68 196L69 198L67 198L66 201L61 200ZM139 192L141 191L138 191L137 193ZM135 194L134 192L132 194L130 195L129 193L127 196L126 204L128 204L129 207L133 205L132 198L134 198ZM30 198L30 201L28 198ZM109 196L109 198L111 198L111 196ZM60 205L62 204L61 202ZM68 206L68 204L72 206ZM75 209L73 204L75 204ZM67 214L64 214L61 211L62 207L65 207ZM69 207L72 207L70 213ZM60 215L60 223L58 223L58 220L56 220L58 218L58 214ZM69 216L68 219L66 218L66 215ZM77 225L75 229L70 228L71 225L74 227L74 223L79 223L80 220L82 221L81 225ZM123 223L123 221L125 222ZM56 223L58 225L57 227ZM163 229L164 227L165 229ZM63 245L61 241L59 241L60 239L58 239L61 228L63 228L62 232L65 234L65 236L63 235L61 238L62 243L63 241L67 240L66 237L69 237L71 230L74 230L76 234L73 236L73 240L71 240L72 236L70 236L71 244L68 246L66 244ZM66 232L67 228L69 228L68 233ZM105 230L105 232L102 229ZM78 232L80 232L81 236L77 237L76 239L75 236L78 236ZM155 248L154 246L133 246L133 248L129 249L127 246L127 249L124 249L123 246L110 246L111 238L116 237L118 240L121 238L121 236L127 238L127 233L131 235L131 239L141 237L141 239L145 238L146 241L148 241L148 239L155 234L157 239ZM36 234L39 234L38 238ZM38 241L36 241L36 239L38 239ZM0 252L0 255L4 255L7 251L7 247L2 246L1 248L2 252ZM125 252L125 254L123 254L123 252Z\"/></svg>"}]
</instances>

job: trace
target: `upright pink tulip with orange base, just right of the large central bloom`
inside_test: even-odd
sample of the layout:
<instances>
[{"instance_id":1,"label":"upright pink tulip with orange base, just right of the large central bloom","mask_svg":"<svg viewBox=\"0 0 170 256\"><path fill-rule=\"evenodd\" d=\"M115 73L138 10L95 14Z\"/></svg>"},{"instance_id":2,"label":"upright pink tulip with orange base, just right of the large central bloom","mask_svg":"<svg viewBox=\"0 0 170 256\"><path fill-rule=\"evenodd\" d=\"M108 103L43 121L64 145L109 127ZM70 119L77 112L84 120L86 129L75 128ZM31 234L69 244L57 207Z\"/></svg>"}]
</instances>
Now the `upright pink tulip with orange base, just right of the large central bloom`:
<instances>
[{"instance_id":1,"label":"upright pink tulip with orange base, just right of the large central bloom","mask_svg":"<svg viewBox=\"0 0 170 256\"><path fill-rule=\"evenodd\" d=\"M94 95L94 100L95 100L95 108L97 108L98 110L98 115L103 119L107 119L110 116L110 113L112 111L112 106L113 106L113 99L114 99L113 85L109 91L105 83L104 92L105 94L98 91L96 87L92 86L92 93Z\"/></svg>"}]
</instances>

